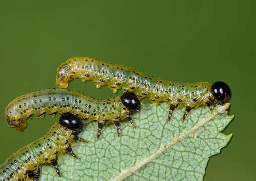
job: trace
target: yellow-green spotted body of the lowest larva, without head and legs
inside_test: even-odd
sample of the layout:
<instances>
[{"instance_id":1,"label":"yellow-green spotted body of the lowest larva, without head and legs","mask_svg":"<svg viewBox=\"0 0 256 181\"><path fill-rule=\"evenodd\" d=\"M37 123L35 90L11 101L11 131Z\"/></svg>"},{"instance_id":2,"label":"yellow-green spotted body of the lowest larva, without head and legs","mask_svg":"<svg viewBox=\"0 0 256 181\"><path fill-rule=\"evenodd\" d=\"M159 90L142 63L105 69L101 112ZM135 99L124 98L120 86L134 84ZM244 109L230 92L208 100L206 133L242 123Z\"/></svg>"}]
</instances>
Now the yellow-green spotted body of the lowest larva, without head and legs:
<instances>
[{"instance_id":1,"label":"yellow-green spotted body of the lowest larva, without head and legs","mask_svg":"<svg viewBox=\"0 0 256 181\"><path fill-rule=\"evenodd\" d=\"M55 123L46 135L19 149L0 165L0 181L33 180L29 177L31 172L36 174L40 165L59 158L73 142L72 130Z\"/></svg>"}]
</instances>

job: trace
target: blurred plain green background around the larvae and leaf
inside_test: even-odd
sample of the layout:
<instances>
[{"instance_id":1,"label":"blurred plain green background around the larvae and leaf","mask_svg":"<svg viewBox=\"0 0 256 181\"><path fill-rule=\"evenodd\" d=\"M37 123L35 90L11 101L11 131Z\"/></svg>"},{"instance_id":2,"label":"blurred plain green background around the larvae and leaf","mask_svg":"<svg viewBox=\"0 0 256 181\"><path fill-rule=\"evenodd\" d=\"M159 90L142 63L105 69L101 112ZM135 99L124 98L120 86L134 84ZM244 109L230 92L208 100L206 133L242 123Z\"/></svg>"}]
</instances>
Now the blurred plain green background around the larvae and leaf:
<instances>
[{"instance_id":1,"label":"blurred plain green background around the larvae and leaf","mask_svg":"<svg viewBox=\"0 0 256 181\"><path fill-rule=\"evenodd\" d=\"M58 120L34 117L20 133L4 121L7 104L22 94L56 87L59 64L90 56L168 80L225 81L235 119L224 133L234 136L210 158L205 180L256 180L255 18L254 1L2 0L0 163ZM116 96L92 82L70 85L96 98Z\"/></svg>"}]
</instances>

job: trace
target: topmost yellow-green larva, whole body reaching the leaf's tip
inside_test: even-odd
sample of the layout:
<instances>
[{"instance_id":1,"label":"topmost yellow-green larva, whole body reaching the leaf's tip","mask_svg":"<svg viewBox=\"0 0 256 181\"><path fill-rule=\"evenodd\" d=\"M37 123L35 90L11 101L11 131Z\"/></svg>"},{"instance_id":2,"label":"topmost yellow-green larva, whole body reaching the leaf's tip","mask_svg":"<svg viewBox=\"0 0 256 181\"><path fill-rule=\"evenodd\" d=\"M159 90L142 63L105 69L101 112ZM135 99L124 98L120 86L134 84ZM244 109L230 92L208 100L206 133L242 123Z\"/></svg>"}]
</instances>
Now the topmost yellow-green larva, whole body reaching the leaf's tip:
<instances>
[{"instance_id":1,"label":"topmost yellow-green larva, whole body reaching the leaf's tip","mask_svg":"<svg viewBox=\"0 0 256 181\"><path fill-rule=\"evenodd\" d=\"M186 107L184 121L191 109L207 105L213 113L213 104L223 105L231 97L230 88L224 82L213 85L208 82L178 83L89 57L70 58L58 67L56 84L60 88L67 88L75 78L83 82L92 80L97 88L107 85L114 93L122 88L125 92L134 92L139 99L148 97L154 104L164 101L170 105L169 120L177 107Z\"/></svg>"}]
</instances>

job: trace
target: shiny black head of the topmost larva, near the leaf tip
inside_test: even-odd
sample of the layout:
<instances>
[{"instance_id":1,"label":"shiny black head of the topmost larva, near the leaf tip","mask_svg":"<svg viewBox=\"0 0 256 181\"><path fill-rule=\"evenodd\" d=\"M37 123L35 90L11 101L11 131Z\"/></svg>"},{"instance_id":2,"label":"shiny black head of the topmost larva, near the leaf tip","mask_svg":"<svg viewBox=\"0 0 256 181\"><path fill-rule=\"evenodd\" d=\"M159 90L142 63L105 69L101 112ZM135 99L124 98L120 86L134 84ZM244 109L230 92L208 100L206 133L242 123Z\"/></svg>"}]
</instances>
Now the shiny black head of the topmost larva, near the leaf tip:
<instances>
[{"instance_id":1,"label":"shiny black head of the topmost larva, near the leaf tip","mask_svg":"<svg viewBox=\"0 0 256 181\"><path fill-rule=\"evenodd\" d=\"M218 103L224 105L231 97L229 86L221 81L215 82L212 85L213 96L217 99Z\"/></svg>"}]
</instances>

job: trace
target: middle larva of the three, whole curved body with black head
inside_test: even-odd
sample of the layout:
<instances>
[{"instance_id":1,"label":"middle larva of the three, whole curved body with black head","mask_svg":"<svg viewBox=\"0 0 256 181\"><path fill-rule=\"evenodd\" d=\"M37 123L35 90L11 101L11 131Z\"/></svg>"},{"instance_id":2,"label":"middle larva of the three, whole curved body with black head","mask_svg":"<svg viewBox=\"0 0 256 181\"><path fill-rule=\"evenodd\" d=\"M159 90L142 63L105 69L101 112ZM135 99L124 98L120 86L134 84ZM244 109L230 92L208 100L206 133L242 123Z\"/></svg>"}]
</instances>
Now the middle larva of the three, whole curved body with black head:
<instances>
[{"instance_id":1,"label":"middle larva of the three, whole curved body with black head","mask_svg":"<svg viewBox=\"0 0 256 181\"><path fill-rule=\"evenodd\" d=\"M6 107L7 124L19 131L27 126L32 115L44 117L45 113L52 116L58 112L71 113L81 119L90 119L98 123L99 138L103 126L114 122L117 134L120 135L120 121L127 119L135 127L130 115L140 109L140 102L132 92L124 93L107 100L94 99L83 93L65 89L46 89L20 96Z\"/></svg>"}]
</instances>

